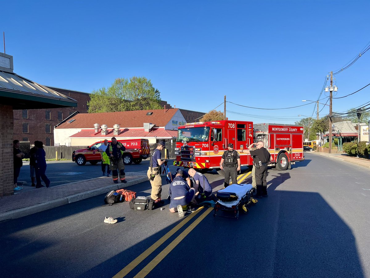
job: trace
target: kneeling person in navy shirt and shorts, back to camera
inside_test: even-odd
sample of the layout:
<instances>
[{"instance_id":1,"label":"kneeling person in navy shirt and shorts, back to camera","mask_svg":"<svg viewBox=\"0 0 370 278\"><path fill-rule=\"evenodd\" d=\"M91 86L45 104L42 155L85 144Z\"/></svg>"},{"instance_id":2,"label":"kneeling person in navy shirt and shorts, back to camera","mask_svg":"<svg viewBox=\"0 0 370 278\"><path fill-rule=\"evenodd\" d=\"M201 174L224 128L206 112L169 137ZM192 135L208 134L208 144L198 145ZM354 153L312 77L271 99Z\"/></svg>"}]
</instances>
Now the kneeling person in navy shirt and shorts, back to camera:
<instances>
[{"instance_id":1,"label":"kneeling person in navy shirt and shorts, back to camera","mask_svg":"<svg viewBox=\"0 0 370 278\"><path fill-rule=\"evenodd\" d=\"M179 212L180 217L184 216L183 208L194 201L195 189L189 187L189 185L182 178L182 173L176 173L174 180L169 185L168 193L171 197L169 211Z\"/></svg>"}]
</instances>

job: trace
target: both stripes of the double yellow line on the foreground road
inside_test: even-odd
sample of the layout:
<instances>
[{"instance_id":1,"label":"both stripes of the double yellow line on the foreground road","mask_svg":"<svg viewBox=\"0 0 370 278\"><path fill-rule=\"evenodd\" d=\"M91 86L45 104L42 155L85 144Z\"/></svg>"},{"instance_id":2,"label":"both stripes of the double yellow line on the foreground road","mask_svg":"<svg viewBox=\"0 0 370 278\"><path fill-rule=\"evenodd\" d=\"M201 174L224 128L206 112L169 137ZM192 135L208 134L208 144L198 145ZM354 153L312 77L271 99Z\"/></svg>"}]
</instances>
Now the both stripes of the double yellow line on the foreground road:
<instances>
[{"instance_id":1,"label":"both stripes of the double yellow line on the foreground road","mask_svg":"<svg viewBox=\"0 0 370 278\"><path fill-rule=\"evenodd\" d=\"M169 239L172 235L175 234L179 229L181 229L186 223L188 223L196 214L198 214L204 207L201 206L191 215L186 217L183 221L177 224L174 228L171 229L167 234L162 236L155 242L152 246L150 246L147 250L145 250L141 255L139 255L136 259L130 262L125 268L123 268L120 272L113 276L113 278L122 278L125 277L132 269L138 266L145 258L147 258L152 252L154 252L159 246L161 246L167 239ZM178 245L182 239L185 238L189 232L192 231L211 211L213 208L208 208L201 216L198 217L192 224L188 226L179 236L177 236L166 248L160 252L151 262L149 262L135 277L145 277L148 273L155 268L171 252L172 249Z\"/></svg>"}]
</instances>

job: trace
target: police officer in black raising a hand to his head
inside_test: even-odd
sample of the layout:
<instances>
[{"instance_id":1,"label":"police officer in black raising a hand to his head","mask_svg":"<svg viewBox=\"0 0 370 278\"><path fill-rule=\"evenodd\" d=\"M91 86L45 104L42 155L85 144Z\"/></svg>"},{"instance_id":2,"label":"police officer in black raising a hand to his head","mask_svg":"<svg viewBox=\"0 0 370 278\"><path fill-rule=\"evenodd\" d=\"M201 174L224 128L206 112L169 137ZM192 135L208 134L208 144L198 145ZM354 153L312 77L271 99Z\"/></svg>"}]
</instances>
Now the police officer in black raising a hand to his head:
<instances>
[{"instance_id":1,"label":"police officer in black raising a hand to his head","mask_svg":"<svg viewBox=\"0 0 370 278\"><path fill-rule=\"evenodd\" d=\"M250 150L253 146L257 149ZM271 158L269 151L263 147L263 142L259 141L250 145L248 150L240 150L240 152L250 153L250 155L253 156L253 167L256 168L256 198L261 198L261 196L267 197L267 165Z\"/></svg>"}]
</instances>

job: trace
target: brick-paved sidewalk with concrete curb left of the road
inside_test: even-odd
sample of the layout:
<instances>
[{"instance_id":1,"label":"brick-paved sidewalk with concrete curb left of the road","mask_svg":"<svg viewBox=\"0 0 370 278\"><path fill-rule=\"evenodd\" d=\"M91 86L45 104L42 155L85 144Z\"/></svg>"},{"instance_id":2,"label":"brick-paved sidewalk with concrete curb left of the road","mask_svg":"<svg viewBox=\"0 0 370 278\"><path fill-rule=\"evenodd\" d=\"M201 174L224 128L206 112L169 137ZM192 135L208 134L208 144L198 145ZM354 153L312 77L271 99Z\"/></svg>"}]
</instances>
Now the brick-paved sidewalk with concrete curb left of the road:
<instances>
[{"instance_id":1,"label":"brick-paved sidewalk with concrete curb left of the road","mask_svg":"<svg viewBox=\"0 0 370 278\"><path fill-rule=\"evenodd\" d=\"M24 186L22 190L16 191L14 195L0 198L0 221L34 214L45 211L46 209L107 193L111 190L148 181L146 174L140 172L127 173L126 179L127 183L113 183L112 177L100 177L51 186L50 188L43 187L36 189L34 187Z\"/></svg>"}]
</instances>

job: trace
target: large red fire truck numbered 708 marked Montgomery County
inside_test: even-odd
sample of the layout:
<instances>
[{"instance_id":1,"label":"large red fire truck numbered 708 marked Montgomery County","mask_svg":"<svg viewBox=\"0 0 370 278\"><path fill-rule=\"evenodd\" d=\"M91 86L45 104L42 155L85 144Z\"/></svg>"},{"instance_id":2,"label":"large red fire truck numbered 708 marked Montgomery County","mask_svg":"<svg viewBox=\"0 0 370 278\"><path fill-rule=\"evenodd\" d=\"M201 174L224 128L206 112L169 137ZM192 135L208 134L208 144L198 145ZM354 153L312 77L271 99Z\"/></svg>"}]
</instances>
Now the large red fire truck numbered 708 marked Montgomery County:
<instances>
[{"instance_id":1,"label":"large red fire truck numbered 708 marked Montgomery County","mask_svg":"<svg viewBox=\"0 0 370 278\"><path fill-rule=\"evenodd\" d=\"M199 171L218 170L229 143L233 143L237 150L246 149L258 141L262 141L270 152L269 166L276 170L290 169L290 165L304 160L302 126L221 120L179 126L174 165ZM242 166L252 165L253 159L249 154L239 154Z\"/></svg>"}]
</instances>

